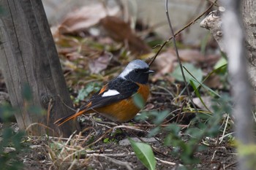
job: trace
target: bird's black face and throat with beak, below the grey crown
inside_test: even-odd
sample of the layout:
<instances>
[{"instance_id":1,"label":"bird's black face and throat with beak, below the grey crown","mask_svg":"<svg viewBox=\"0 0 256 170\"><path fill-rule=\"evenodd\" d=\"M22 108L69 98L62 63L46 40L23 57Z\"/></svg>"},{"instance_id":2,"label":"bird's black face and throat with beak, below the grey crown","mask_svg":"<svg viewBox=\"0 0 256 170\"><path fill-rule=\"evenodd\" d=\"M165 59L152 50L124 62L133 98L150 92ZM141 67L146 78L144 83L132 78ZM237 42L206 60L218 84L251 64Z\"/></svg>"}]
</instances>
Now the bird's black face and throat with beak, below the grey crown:
<instances>
[{"instance_id":1,"label":"bird's black face and throat with beak, below the grey crown","mask_svg":"<svg viewBox=\"0 0 256 170\"><path fill-rule=\"evenodd\" d=\"M125 77L127 80L132 82L138 82L140 84L146 84L148 82L148 74L154 73L154 71L146 69L134 69L132 72L129 72Z\"/></svg>"}]
</instances>

